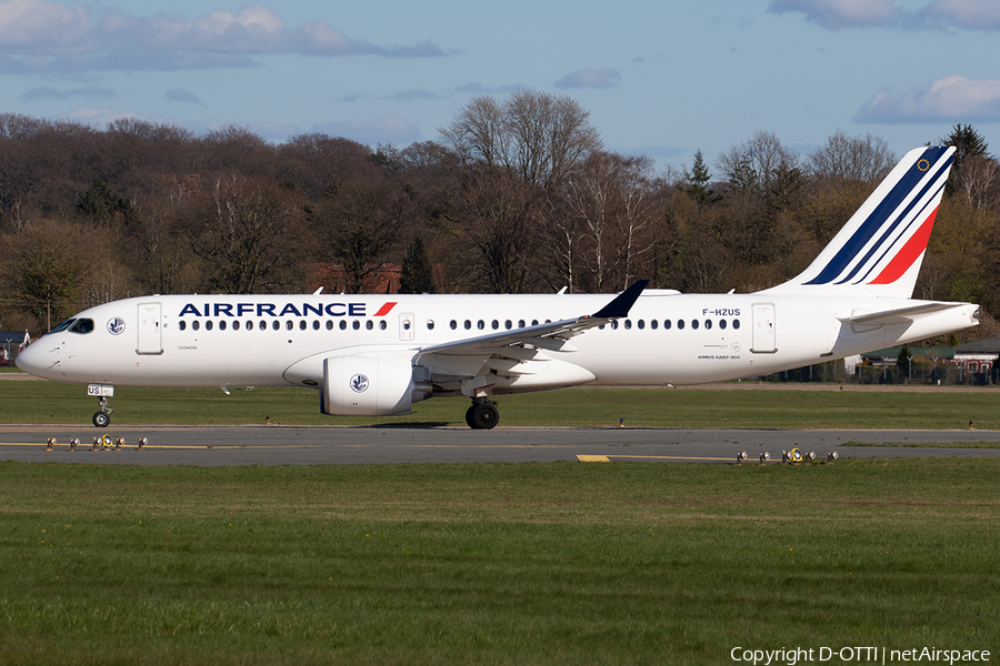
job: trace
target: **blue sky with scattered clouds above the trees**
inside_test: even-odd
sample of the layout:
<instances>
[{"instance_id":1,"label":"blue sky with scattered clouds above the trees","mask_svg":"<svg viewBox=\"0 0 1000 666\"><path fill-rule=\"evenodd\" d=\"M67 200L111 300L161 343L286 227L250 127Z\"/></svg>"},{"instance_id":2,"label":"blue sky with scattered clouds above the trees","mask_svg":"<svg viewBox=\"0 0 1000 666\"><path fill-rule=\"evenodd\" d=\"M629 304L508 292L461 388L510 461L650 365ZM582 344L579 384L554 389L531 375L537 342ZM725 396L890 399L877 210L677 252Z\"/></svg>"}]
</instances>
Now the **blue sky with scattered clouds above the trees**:
<instances>
[{"instance_id":1,"label":"blue sky with scattered clouds above the trees","mask_svg":"<svg viewBox=\"0 0 1000 666\"><path fill-rule=\"evenodd\" d=\"M902 154L971 123L1000 152L998 44L1000 0L0 0L0 112L407 145L526 88L660 165L761 130Z\"/></svg>"}]
</instances>

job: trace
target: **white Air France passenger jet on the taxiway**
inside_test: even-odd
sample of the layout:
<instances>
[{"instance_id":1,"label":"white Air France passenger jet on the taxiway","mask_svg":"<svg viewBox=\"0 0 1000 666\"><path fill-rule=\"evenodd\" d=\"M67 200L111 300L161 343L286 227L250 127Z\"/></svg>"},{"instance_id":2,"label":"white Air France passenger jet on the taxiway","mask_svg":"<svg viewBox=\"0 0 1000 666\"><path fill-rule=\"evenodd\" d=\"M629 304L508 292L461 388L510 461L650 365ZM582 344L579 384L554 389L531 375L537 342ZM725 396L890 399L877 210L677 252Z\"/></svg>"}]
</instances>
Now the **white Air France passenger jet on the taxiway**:
<instances>
[{"instance_id":1,"label":"white Air France passenger jet on the taxiway","mask_svg":"<svg viewBox=\"0 0 1000 666\"><path fill-rule=\"evenodd\" d=\"M466 396L582 384L681 386L764 375L958 331L972 303L912 300L953 148L918 148L799 275L763 291L681 294L150 295L90 307L18 356L87 384L93 424L114 386L302 386L331 415L412 413Z\"/></svg>"}]
</instances>

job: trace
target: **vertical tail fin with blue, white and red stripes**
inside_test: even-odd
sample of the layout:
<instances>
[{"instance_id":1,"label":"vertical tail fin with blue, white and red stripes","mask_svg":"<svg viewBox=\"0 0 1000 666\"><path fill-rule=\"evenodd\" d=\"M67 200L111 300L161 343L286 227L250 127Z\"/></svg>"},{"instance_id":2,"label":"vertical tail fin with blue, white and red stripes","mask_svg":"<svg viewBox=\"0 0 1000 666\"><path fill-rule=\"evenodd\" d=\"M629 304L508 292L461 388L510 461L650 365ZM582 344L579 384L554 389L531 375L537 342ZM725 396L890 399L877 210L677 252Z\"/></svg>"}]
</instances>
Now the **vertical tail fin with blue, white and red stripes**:
<instances>
[{"instance_id":1,"label":"vertical tail fin with blue, white and red stripes","mask_svg":"<svg viewBox=\"0 0 1000 666\"><path fill-rule=\"evenodd\" d=\"M953 153L908 152L806 271L764 293L912 296Z\"/></svg>"}]
</instances>

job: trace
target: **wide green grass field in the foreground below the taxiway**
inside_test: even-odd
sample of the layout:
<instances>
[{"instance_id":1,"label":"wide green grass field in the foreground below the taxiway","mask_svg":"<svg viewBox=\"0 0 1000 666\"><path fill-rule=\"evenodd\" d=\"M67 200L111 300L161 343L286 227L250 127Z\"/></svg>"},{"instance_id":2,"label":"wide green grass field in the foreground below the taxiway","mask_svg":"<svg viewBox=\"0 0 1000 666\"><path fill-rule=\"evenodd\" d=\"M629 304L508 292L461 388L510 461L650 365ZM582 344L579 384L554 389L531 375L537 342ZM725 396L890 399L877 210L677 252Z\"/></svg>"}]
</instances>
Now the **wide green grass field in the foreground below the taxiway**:
<instances>
[{"instance_id":1,"label":"wide green grass field in the foreground below the taxiway","mask_svg":"<svg viewBox=\"0 0 1000 666\"><path fill-rule=\"evenodd\" d=\"M998 475L957 458L0 463L0 664L996 655Z\"/></svg>"}]
</instances>

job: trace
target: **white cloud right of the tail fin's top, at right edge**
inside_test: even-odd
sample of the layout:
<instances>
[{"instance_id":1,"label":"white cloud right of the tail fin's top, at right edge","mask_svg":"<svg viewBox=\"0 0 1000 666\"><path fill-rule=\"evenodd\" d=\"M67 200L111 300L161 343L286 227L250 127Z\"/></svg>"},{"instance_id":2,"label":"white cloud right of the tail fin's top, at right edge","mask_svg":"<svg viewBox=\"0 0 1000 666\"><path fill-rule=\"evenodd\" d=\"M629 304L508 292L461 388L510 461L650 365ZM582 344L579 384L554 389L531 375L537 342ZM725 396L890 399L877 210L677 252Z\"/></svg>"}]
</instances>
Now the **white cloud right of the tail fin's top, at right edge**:
<instances>
[{"instance_id":1,"label":"white cloud right of the tail fin's top, at right edge","mask_svg":"<svg viewBox=\"0 0 1000 666\"><path fill-rule=\"evenodd\" d=\"M856 122L1000 121L1000 80L973 81L960 74L896 93L881 90L858 111Z\"/></svg>"}]
</instances>

